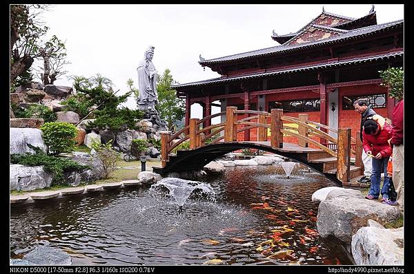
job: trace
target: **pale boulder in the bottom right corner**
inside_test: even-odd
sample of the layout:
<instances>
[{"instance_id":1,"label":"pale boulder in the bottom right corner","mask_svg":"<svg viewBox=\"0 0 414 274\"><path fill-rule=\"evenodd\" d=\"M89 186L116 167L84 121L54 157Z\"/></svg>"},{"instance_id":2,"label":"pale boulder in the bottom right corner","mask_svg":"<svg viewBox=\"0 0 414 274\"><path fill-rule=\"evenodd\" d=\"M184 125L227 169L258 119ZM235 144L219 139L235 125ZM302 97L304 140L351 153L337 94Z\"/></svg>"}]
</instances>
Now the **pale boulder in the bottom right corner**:
<instances>
[{"instance_id":1,"label":"pale boulder in the bottom right corner","mask_svg":"<svg viewBox=\"0 0 414 274\"><path fill-rule=\"evenodd\" d=\"M404 227L362 227L352 236L351 248L358 265L404 265Z\"/></svg>"}]
</instances>

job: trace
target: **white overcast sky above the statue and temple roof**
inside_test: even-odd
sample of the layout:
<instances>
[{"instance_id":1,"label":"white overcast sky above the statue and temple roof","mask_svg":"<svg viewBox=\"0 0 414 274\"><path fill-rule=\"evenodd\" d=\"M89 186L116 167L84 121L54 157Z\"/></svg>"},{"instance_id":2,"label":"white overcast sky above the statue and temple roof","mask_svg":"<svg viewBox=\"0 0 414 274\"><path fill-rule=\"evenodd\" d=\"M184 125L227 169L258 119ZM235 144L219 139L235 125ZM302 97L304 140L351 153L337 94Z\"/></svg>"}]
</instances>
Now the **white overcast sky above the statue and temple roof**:
<instances>
[{"instance_id":1,"label":"white overcast sky above the statue and temple roof","mask_svg":"<svg viewBox=\"0 0 414 274\"><path fill-rule=\"evenodd\" d=\"M404 5L375 5L377 23L404 19ZM359 18L371 4L360 5L53 5L43 21L65 41L67 75L110 78L118 94L128 91L126 81L137 86L137 65L149 45L155 47L152 62L162 74L170 69L175 81L190 83L218 77L204 59L279 45L277 34L297 32L322 12ZM55 85L72 86L66 76ZM135 108L135 98L126 106ZM192 107L192 118L201 118L201 107ZM213 107L213 113L219 112Z\"/></svg>"}]
</instances>

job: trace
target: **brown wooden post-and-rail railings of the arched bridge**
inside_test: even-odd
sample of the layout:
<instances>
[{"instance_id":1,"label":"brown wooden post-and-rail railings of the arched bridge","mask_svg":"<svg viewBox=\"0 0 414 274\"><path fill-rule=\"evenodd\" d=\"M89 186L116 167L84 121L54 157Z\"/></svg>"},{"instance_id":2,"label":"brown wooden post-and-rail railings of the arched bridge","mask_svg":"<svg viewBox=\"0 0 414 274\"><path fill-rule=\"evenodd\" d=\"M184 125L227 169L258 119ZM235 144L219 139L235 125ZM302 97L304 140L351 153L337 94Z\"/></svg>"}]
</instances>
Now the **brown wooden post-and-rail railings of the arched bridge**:
<instances>
[{"instance_id":1,"label":"brown wooden post-and-rail railings of the arched bridge","mask_svg":"<svg viewBox=\"0 0 414 274\"><path fill-rule=\"evenodd\" d=\"M226 114L226 121L224 123L215 125L206 123L207 121L210 122L212 118L224 114ZM284 125L284 123L290 125ZM207 126L204 127L204 124ZM337 167L341 167L345 174L341 175L342 179L340 180L349 177L351 153L355 154L355 164L362 166L362 151L360 149L362 145L360 144L359 132L357 132L356 138L353 139L351 138L351 129L349 131L337 130L313 122L308 119L308 114L299 114L298 118L295 118L284 116L283 109L271 109L270 113L268 113L255 110L237 110L237 107L226 107L226 112L206 116L201 120L191 118L190 124L174 135L168 132L162 133L161 166L165 167L170 152L187 140L189 140L190 149L204 146L207 140L208 143L220 141L237 142L237 133L242 131L250 132L250 129L254 128L257 128L257 141L270 140L270 146L273 148L283 148L284 135L293 136L297 138L297 143L300 147L308 147L309 144L312 144L336 157L338 160ZM268 129L270 129L270 136L268 136ZM338 137L333 138L326 133L326 130L336 133ZM181 136L181 139L177 140L179 136ZM315 137L325 141L317 142L317 140L314 140ZM344 167L347 168L344 169Z\"/></svg>"}]
</instances>

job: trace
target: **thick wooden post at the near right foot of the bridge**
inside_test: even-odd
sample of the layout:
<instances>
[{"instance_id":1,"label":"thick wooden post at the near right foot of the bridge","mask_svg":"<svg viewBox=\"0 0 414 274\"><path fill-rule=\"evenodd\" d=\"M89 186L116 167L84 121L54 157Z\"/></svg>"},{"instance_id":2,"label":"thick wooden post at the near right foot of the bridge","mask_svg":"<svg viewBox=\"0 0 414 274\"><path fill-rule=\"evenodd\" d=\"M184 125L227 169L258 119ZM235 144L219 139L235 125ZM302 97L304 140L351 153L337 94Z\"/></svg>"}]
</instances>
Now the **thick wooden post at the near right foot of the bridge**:
<instances>
[{"instance_id":1,"label":"thick wooden post at the near right foot of the bridge","mask_svg":"<svg viewBox=\"0 0 414 274\"><path fill-rule=\"evenodd\" d=\"M349 182L351 165L351 129L338 129L337 179Z\"/></svg>"}]
</instances>

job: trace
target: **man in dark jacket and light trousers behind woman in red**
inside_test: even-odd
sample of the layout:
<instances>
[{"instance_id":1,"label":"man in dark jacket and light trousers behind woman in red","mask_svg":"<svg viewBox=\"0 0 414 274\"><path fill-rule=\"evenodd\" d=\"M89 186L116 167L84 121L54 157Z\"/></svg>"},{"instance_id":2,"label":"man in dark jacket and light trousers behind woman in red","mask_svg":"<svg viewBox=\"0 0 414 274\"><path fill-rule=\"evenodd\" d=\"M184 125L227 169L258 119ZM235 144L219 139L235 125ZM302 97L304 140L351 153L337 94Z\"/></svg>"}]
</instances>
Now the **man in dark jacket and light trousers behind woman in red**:
<instances>
[{"instance_id":1,"label":"man in dark jacket and light trousers behind woman in red","mask_svg":"<svg viewBox=\"0 0 414 274\"><path fill-rule=\"evenodd\" d=\"M364 125L364 122L366 121L366 118L372 117L375 114L375 111L368 107L366 101L364 99L358 99L353 103L355 111L357 111L359 114L361 114L361 125L359 129L359 138L361 138L362 141L362 125ZM364 163L364 176L360 178L357 182L362 182L364 184L367 184L371 182L371 175L372 175L372 158L366 155L364 149L362 149L362 162Z\"/></svg>"}]
</instances>

